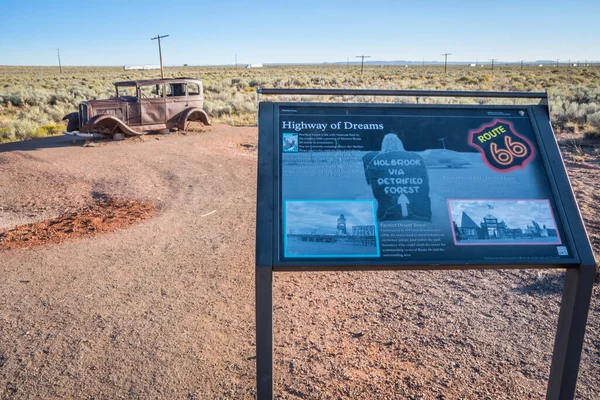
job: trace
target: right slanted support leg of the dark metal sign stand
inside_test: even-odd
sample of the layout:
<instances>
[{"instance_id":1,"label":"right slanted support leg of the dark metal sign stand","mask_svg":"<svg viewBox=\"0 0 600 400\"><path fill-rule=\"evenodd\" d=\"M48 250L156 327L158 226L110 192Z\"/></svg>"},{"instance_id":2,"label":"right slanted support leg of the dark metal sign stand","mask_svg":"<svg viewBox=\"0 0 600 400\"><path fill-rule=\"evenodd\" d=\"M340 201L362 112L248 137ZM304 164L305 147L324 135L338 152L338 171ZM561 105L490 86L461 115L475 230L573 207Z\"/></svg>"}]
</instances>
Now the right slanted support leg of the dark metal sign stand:
<instances>
[{"instance_id":1,"label":"right slanted support leg of the dark metal sign stand","mask_svg":"<svg viewBox=\"0 0 600 400\"><path fill-rule=\"evenodd\" d=\"M552 353L547 400L573 399L575 396L595 274L595 265L567 269Z\"/></svg>"}]
</instances>

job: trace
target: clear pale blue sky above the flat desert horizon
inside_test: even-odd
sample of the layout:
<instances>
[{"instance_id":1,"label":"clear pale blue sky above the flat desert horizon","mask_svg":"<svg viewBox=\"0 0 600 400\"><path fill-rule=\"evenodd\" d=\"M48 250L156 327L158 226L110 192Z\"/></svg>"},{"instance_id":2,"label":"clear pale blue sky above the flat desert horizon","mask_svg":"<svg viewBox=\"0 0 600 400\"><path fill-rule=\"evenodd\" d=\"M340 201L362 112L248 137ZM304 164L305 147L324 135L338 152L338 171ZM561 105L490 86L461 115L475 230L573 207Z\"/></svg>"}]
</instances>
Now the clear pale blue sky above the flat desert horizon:
<instances>
[{"instance_id":1,"label":"clear pale blue sky above the flat desert horizon","mask_svg":"<svg viewBox=\"0 0 600 400\"><path fill-rule=\"evenodd\" d=\"M0 65L600 60L600 1L0 0Z\"/></svg>"}]
</instances>

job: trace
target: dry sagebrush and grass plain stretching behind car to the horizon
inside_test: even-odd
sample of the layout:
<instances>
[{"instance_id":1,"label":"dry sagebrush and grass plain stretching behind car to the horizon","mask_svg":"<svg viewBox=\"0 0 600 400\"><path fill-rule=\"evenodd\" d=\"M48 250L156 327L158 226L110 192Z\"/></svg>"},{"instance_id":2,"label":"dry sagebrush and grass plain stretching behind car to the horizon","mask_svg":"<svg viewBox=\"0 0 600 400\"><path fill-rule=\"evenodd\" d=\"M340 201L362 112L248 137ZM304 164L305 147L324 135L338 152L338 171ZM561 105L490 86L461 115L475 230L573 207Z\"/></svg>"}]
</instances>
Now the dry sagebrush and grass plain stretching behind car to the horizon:
<instances>
[{"instance_id":1,"label":"dry sagebrush and grass plain stretching behind car to the horizon","mask_svg":"<svg viewBox=\"0 0 600 400\"><path fill-rule=\"evenodd\" d=\"M432 90L548 91L558 130L594 135L600 129L598 67L367 67L293 66L256 69L169 67L168 77L202 79L205 109L211 119L231 125L256 124L256 88L372 88ZM158 71L123 71L118 67L0 67L0 141L23 140L60 132L63 115L82 100L109 98L113 82L154 78ZM271 99L271 98L270 98ZM273 98L273 100L275 100ZM279 100L334 101L339 98L287 96ZM473 99L414 99L348 96L344 101L472 103ZM485 104L489 100L478 100ZM495 100L495 103L498 101ZM513 104L513 100L505 100Z\"/></svg>"}]
</instances>

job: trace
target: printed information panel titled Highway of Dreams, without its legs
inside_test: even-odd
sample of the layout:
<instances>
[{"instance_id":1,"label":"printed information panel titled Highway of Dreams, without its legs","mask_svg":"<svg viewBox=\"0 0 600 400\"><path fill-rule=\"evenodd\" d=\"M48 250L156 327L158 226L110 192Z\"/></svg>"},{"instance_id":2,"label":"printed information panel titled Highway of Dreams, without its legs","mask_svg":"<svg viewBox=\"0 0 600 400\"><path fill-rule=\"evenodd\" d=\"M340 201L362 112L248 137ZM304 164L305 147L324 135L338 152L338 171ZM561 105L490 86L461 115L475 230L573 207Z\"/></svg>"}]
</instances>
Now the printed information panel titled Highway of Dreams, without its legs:
<instances>
[{"instance_id":1,"label":"printed information panel titled Highway of Dreams, without its legs","mask_svg":"<svg viewBox=\"0 0 600 400\"><path fill-rule=\"evenodd\" d=\"M577 263L541 106L264 104L274 266Z\"/></svg>"}]
</instances>

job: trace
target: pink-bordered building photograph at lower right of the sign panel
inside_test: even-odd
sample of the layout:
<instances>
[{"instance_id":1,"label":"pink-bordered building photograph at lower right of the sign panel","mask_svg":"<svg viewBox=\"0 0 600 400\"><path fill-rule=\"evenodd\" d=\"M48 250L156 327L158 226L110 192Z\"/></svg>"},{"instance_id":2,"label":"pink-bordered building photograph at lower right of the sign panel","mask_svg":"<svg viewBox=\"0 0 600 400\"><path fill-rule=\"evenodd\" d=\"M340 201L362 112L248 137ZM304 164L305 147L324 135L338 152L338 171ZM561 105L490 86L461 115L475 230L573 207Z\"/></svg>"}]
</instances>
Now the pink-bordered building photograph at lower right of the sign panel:
<instances>
[{"instance_id":1,"label":"pink-bordered building photograph at lower right of the sign panel","mask_svg":"<svg viewBox=\"0 0 600 400\"><path fill-rule=\"evenodd\" d=\"M560 244L548 200L448 200L457 245Z\"/></svg>"}]
</instances>

